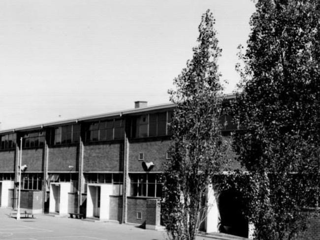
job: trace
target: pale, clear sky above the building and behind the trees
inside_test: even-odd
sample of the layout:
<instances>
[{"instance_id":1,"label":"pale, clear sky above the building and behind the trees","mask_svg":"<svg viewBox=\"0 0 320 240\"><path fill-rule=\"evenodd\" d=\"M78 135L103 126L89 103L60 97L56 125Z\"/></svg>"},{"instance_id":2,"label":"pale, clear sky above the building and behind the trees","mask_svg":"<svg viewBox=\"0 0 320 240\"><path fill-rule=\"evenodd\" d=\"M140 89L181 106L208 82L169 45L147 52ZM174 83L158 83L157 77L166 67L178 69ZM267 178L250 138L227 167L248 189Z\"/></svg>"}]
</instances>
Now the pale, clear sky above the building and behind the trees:
<instances>
[{"instance_id":1,"label":"pale, clear sky above the building and behind the trees","mask_svg":"<svg viewBox=\"0 0 320 240\"><path fill-rule=\"evenodd\" d=\"M208 8L230 93L251 0L0 0L0 129L167 103Z\"/></svg>"}]
</instances>

